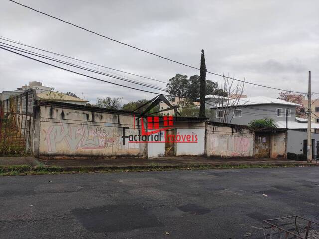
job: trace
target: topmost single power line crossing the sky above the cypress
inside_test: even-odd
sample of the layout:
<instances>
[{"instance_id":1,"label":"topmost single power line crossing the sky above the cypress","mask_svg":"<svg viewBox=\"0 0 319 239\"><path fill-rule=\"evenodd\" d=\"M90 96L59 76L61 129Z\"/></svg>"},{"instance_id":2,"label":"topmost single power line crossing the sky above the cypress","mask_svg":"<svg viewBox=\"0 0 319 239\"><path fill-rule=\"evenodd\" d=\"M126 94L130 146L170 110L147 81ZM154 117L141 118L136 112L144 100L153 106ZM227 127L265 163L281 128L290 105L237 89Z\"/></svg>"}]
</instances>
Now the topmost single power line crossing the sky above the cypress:
<instances>
[{"instance_id":1,"label":"topmost single power line crossing the sky above the cypress","mask_svg":"<svg viewBox=\"0 0 319 239\"><path fill-rule=\"evenodd\" d=\"M48 13L45 13L45 12L36 10L36 9L34 9L34 8L32 8L32 7L29 7L29 6L27 6L27 5L23 5L23 4L19 3L19 2L16 2L16 1L13 1L13 0L9 0L9 1L11 1L11 2L13 2L13 3L16 3L16 4L20 5L20 6L26 7L26 8L28 8L28 9L32 10L32 11L37 12L37 13L46 15L46 16L51 17L51 18L53 18L53 19L59 20L59 21L61 21L61 22L64 22L64 23L66 23L66 24L69 24L69 25L71 25L71 26L74 26L74 27L77 27L77 28L79 28L79 29L82 29L82 30L84 30L84 31L87 31L87 32L90 32L90 33L92 33L92 34L98 35L98 36L100 36L100 37L106 38L106 39L108 39L108 40L117 42L117 43L119 43L119 44L122 44L122 45L125 45L125 46L128 46L128 47L131 47L131 48L133 48L133 49L142 51L142 52L144 52L144 53L147 53L147 54L150 54L150 55L153 55L153 56L160 57L160 58L162 58L162 59L165 59L165 60L168 60L168 61L171 61L171 62L180 64L180 65L183 65L183 66L187 66L187 67L190 67L190 68L193 68L193 69L196 69L196 70L200 70L200 69L197 68L197 67L194 67L194 66L191 66L191 65L188 65L188 64L179 62L179 61L175 61L175 60L172 60L172 59L170 59L170 58L161 56L161 55L159 55L159 54L155 54L155 53L153 53L153 52L150 52L150 51L147 51L147 50L143 50L143 49L141 49L141 48L139 48L139 47L132 46L132 45L130 45L130 44L127 44L127 43L124 43L124 42L115 40L115 39L113 39L113 38L110 38L110 37L108 37L108 36L102 35L102 34L97 33L97 32L95 32L95 31L89 30L89 29L84 28L84 27L82 27L82 26L76 25L76 24L71 23L71 22L69 22L69 21L66 21L66 20L63 20L63 19L61 19L61 18L52 16L52 15L50 15L50 14L48 14ZM213 74L213 75L216 75L216 76L225 77L224 75L221 75L221 74L218 74L218 73L214 73L214 72L210 72L210 71L207 71L207 70L206 70L206 72L207 72L207 73L210 73L210 74ZM244 80L239 80L239 79L236 79L236 78L233 78L233 77L226 77L226 78L232 79L232 80L235 80L235 81L239 81L239 82L242 82L242 83L247 83L247 84L251 84L251 85L255 85L255 86L260 86L260 87L269 88L269 89L280 90L280 91L289 91L289 90L280 89L280 88L276 88L276 87L264 86L264 85L257 84L257 83L252 83L252 82L248 82L248 81L244 81ZM306 93L304 93L304 92L298 92L298 91L290 91L290 92L300 93L300 94L306 94Z\"/></svg>"}]
</instances>

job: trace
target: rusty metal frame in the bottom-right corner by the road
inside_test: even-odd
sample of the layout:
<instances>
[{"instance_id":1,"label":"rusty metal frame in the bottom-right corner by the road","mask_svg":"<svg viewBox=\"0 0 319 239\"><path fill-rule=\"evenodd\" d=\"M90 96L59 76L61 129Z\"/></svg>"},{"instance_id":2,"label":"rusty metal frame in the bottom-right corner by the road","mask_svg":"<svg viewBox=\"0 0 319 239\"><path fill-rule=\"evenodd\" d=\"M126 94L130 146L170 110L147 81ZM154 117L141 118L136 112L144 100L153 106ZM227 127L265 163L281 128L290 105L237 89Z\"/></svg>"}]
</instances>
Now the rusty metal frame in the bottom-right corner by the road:
<instances>
[{"instance_id":1,"label":"rusty metal frame in the bottom-right corner by the road","mask_svg":"<svg viewBox=\"0 0 319 239\"><path fill-rule=\"evenodd\" d=\"M319 239L319 224L300 216L263 221L265 239Z\"/></svg>"}]
</instances>

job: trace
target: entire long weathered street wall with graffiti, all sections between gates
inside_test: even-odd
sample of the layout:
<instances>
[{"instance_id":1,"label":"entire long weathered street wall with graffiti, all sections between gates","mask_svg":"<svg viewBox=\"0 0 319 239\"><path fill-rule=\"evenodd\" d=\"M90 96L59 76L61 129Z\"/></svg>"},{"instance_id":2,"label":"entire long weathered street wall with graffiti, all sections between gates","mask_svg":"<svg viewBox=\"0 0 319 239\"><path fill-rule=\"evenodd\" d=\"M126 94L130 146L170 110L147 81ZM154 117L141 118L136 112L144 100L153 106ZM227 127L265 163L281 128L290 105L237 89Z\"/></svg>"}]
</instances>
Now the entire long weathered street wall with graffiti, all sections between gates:
<instances>
[{"instance_id":1,"label":"entire long weathered street wall with graffiti, all sections between gates","mask_svg":"<svg viewBox=\"0 0 319 239\"><path fill-rule=\"evenodd\" d=\"M123 142L124 128L127 128L126 136L141 133L141 125L134 125L134 116L127 112L39 101L34 113L31 140L35 156L92 158L165 155L164 132L161 132L161 142L157 143L129 143L128 138ZM147 127L146 123L144 126ZM164 128L162 122L160 128ZM255 136L247 127L179 118L174 121L173 128L177 138L186 139L190 135L196 139L192 143L185 142L187 140L176 142L176 156L254 157ZM271 149L272 157L285 157L284 132L271 133Z\"/></svg>"}]
</instances>

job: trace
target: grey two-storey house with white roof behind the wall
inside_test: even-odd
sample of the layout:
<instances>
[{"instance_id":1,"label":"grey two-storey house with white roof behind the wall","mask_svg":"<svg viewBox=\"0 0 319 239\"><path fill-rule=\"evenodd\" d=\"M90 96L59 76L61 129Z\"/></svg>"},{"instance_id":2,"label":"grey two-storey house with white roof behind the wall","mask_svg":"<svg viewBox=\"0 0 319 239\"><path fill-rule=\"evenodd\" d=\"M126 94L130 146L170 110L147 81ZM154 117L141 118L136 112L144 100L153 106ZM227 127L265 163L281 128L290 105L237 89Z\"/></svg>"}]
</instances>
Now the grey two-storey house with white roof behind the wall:
<instances>
[{"instance_id":1,"label":"grey two-storey house with white roof behind the wall","mask_svg":"<svg viewBox=\"0 0 319 239\"><path fill-rule=\"evenodd\" d=\"M307 119L296 117L296 107L301 106L269 97L241 99L238 104L211 107L210 120L239 125L248 125L252 120L271 118L277 128L287 128L287 152L307 154ZM317 109L318 108L318 109ZM319 111L319 107L313 107ZM319 113L319 112L318 112ZM312 132L319 130L319 123L312 121ZM319 134L312 133L312 154L319 155Z\"/></svg>"}]
</instances>

